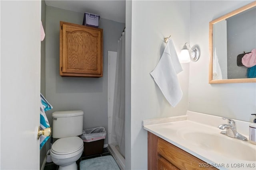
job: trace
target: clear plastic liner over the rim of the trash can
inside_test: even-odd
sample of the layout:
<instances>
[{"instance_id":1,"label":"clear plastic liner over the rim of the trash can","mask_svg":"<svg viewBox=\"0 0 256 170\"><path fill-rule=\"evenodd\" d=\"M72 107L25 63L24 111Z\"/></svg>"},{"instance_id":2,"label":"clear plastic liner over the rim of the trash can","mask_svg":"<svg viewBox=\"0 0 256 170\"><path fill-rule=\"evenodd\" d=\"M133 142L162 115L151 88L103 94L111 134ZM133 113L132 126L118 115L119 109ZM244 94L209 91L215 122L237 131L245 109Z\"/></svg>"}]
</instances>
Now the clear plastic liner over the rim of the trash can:
<instances>
[{"instance_id":1,"label":"clear plastic liner over the rim of the trash can","mask_svg":"<svg viewBox=\"0 0 256 170\"><path fill-rule=\"evenodd\" d=\"M84 142L98 141L106 138L106 130L104 127L96 127L92 129L84 129L81 138Z\"/></svg>"}]
</instances>

